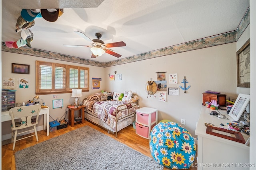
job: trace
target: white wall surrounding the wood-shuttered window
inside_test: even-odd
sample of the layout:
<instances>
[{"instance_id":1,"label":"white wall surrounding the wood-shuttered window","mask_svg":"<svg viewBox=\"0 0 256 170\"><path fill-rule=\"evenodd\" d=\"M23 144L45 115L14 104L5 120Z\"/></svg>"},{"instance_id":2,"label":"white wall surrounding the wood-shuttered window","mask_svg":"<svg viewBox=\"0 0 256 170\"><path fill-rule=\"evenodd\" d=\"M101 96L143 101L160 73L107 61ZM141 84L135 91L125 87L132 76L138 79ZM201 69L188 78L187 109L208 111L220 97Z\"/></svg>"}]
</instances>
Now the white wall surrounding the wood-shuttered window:
<instances>
[{"instance_id":1,"label":"white wall surrounding the wood-shuttered window","mask_svg":"<svg viewBox=\"0 0 256 170\"><path fill-rule=\"evenodd\" d=\"M76 65L76 66L86 66L89 67L89 73L90 73L90 88L92 84L92 77L102 78L102 81L100 82L100 86L104 88L104 68L97 67L97 66L89 66L84 64L77 64L77 63L70 63L66 61L58 61L58 60L52 60L52 59L45 59L42 57L34 57L29 55L20 55L16 53L8 53L2 51L2 78L15 78L16 87L16 103L20 102L27 102L28 100L32 100L34 96L36 96L36 61L47 61L52 63L61 63L61 64L69 64L69 65ZM29 64L30 65L30 74L13 74L12 73L12 63L18 63L18 64ZM20 89L18 88L18 79L19 78L26 78L29 80L29 88L27 89ZM83 92L83 97L80 98L80 102L82 100L94 92L99 92L99 90L92 90L90 89L89 92ZM53 95L57 95L58 98L53 98ZM53 119L57 119L58 117L62 117L65 112L67 111L66 106L68 104L72 104L74 98L71 97L71 93L64 93L64 94L48 94L48 95L40 95L39 96L42 100L44 100L45 104L50 107L50 116ZM63 99L63 106L62 108L56 108L52 109L52 100L55 99ZM38 100L42 102L41 100ZM68 118L68 115L67 117ZM50 121L53 121L53 119L50 118ZM40 116L39 119L40 123L39 125L43 124L43 116ZM2 122L2 135L11 133L10 130L10 122Z\"/></svg>"}]
</instances>

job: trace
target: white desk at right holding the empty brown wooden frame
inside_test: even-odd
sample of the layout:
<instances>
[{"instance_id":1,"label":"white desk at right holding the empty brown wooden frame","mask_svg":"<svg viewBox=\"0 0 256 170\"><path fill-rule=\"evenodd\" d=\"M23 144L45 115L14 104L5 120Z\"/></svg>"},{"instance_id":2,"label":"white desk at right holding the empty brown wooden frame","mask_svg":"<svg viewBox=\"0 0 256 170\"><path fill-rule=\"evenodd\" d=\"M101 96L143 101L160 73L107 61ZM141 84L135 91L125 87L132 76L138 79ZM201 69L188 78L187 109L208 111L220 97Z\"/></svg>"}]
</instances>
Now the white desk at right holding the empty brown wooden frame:
<instances>
[{"instance_id":1,"label":"white desk at right holding the empty brown wooden frame","mask_svg":"<svg viewBox=\"0 0 256 170\"><path fill-rule=\"evenodd\" d=\"M216 116L210 115L210 108L202 106L200 117L196 126L195 134L198 135L198 170L244 170L249 169L249 150L250 147L210 135L206 133L206 126L204 123L212 123L216 127L223 127L223 123L227 128L227 123L232 122L233 119L228 116L226 111L218 109L221 114L226 115L227 119L220 119ZM244 140L247 141L249 135L242 133Z\"/></svg>"}]
</instances>

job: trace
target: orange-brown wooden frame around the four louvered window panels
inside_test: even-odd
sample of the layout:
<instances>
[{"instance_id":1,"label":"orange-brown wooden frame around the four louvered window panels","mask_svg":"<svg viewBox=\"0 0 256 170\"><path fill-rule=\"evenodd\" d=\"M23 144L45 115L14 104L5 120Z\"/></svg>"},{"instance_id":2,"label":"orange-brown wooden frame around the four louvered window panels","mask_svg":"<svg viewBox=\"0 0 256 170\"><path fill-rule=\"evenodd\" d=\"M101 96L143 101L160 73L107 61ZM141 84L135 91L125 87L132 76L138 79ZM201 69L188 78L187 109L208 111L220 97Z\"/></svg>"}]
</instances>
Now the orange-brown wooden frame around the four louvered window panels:
<instances>
[{"instance_id":1,"label":"orange-brown wooden frame around the four louvered window panels","mask_svg":"<svg viewBox=\"0 0 256 170\"><path fill-rule=\"evenodd\" d=\"M40 65L48 65L52 66L52 88L51 89L40 89ZM65 88L56 89L55 88L55 67L64 67L65 70ZM72 88L69 87L69 69L75 68L78 69L78 88L80 88L80 70L87 70L87 88L80 88L82 92L89 91L89 68L88 67L80 67L80 66L73 66L73 65L66 65L66 64L58 64L58 63L50 63L45 61L36 61L36 95L42 94L57 94L57 93L72 93Z\"/></svg>"}]
</instances>

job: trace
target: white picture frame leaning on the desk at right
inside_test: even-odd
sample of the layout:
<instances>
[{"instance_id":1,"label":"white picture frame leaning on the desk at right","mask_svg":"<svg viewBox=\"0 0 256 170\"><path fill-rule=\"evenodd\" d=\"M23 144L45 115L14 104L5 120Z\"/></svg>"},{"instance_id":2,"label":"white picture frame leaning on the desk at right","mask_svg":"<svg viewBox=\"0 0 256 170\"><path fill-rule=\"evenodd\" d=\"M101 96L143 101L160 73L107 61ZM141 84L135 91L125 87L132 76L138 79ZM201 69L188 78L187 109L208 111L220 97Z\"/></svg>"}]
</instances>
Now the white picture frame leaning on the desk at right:
<instances>
[{"instance_id":1,"label":"white picture frame leaning on the desk at right","mask_svg":"<svg viewBox=\"0 0 256 170\"><path fill-rule=\"evenodd\" d=\"M236 98L236 102L234 103L228 115L232 117L234 121L238 121L241 115L244 113L244 110L246 109L249 102L249 94L239 94L238 97Z\"/></svg>"}]
</instances>

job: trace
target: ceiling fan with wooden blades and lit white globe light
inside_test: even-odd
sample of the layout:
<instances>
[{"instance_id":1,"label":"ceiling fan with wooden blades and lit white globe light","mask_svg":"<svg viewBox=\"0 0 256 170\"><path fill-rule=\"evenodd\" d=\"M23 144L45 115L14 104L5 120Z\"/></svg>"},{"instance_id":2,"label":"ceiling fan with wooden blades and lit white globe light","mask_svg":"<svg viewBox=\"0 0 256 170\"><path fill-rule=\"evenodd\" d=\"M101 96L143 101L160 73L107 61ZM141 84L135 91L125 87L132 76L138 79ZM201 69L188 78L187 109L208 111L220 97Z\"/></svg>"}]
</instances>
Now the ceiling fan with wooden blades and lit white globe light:
<instances>
[{"instance_id":1,"label":"ceiling fan with wooden blades and lit white globe light","mask_svg":"<svg viewBox=\"0 0 256 170\"><path fill-rule=\"evenodd\" d=\"M101 38L100 33L95 33L95 36L97 39L90 39L84 33L80 32L80 31L74 31L74 32L77 33L78 35L80 35L81 37L83 37L84 39L91 41L92 42L91 45L64 45L64 46L67 46L67 47L91 47L91 51L92 51L91 58L96 58L98 56L101 56L104 53L108 53L110 55L113 55L113 56L119 58L119 57L121 57L121 55L113 52L113 50L109 49L109 48L126 46L126 44L123 41L105 44L104 41L100 40L100 38Z\"/></svg>"}]
</instances>

